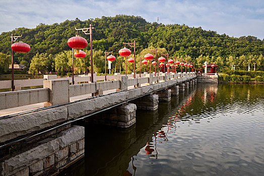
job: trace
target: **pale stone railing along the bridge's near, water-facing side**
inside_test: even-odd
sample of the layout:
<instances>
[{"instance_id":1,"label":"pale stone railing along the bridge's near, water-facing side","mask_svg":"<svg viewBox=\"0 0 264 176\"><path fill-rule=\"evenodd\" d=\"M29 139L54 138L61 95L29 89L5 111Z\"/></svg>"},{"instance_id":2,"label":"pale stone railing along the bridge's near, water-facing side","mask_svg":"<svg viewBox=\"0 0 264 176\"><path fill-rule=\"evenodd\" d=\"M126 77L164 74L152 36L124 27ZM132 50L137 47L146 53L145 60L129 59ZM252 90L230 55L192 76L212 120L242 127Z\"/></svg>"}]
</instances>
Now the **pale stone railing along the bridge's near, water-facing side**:
<instances>
[{"instance_id":1,"label":"pale stone railing along the bridge's near, water-facing side","mask_svg":"<svg viewBox=\"0 0 264 176\"><path fill-rule=\"evenodd\" d=\"M170 73L159 73L157 76L153 74L142 74L145 77L133 78L133 75L112 75L108 78L115 79L104 82L93 82L93 83L81 83L69 85L71 79L57 78L51 80L45 80L55 78L56 75L48 75L42 79L42 89L32 89L15 92L2 92L0 93L0 110L15 108L25 105L31 105L36 103L43 103L44 107L58 105L63 103L69 103L70 97L81 96L86 94L102 95L103 91L108 90L127 90L128 86L140 87L141 84L151 85L161 81L169 81L173 79L181 79L183 77L195 75L194 72L175 74ZM155 74L154 74L155 75ZM139 76L139 74L137 74ZM89 76L85 78L75 77L75 81L89 81ZM128 78L129 77L129 78ZM96 76L96 79L102 79L102 76ZM103 76L103 79L105 77ZM33 80L33 79L32 79Z\"/></svg>"}]
</instances>

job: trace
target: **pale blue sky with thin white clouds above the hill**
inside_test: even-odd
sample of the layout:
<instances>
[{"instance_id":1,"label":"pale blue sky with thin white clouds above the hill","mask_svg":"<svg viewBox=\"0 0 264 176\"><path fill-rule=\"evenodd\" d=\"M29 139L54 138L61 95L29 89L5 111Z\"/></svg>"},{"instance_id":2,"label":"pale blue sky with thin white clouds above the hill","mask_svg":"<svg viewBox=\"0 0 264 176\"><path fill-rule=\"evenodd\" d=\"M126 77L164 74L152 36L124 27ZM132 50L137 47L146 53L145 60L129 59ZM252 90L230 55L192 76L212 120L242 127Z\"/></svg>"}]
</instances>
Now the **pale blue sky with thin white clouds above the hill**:
<instances>
[{"instance_id":1,"label":"pale blue sky with thin white clouds above the hill","mask_svg":"<svg viewBox=\"0 0 264 176\"><path fill-rule=\"evenodd\" d=\"M185 24L229 36L264 38L264 0L0 0L0 33L65 20L115 15L141 16L148 22Z\"/></svg>"}]
</instances>

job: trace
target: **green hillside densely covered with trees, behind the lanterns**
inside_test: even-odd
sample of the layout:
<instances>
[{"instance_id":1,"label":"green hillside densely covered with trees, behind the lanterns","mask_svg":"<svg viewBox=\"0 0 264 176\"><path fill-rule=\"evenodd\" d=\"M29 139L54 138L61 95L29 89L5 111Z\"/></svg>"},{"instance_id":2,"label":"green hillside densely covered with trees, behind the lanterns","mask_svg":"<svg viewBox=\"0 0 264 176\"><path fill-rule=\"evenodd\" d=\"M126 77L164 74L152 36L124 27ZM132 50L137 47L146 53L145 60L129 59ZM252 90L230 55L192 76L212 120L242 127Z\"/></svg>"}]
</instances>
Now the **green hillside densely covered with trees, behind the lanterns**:
<instances>
[{"instance_id":1,"label":"green hillside densely covered with trees, behind the lanterns","mask_svg":"<svg viewBox=\"0 0 264 176\"><path fill-rule=\"evenodd\" d=\"M7 58L9 58L6 55L11 55L11 33L14 35L23 34L22 40L30 45L31 50L25 54L15 53L15 62L30 67L33 58L41 56L47 58L48 61L43 62L42 67L39 63L34 64L41 67L37 68L36 72L45 71L45 69L50 71L52 68L57 70L59 66L55 64L55 58L58 59L58 55L61 56L61 54L71 50L67 41L76 35L75 27L87 28L90 24L95 28L93 31L93 49L98 52L97 54L103 56L97 58L102 59L102 61L95 61L95 66L99 67L97 71L104 70L101 66L104 65L102 64L104 63L104 50L113 51L113 55L117 56L118 50L124 47L123 42L133 42L134 40L137 42L136 53L138 56L145 48L159 47L165 48L166 51L164 52L168 52L170 56L182 57L184 60L187 59L196 63L197 66L201 66L202 62L207 60L219 64L221 67L229 67L234 63L240 65L239 69L246 69L248 62L250 62L257 64L257 70L264 68L264 40L252 36L234 38L225 34L219 35L215 31L206 31L201 27L148 23L141 17L125 15L86 21L67 20L60 24L39 24L34 29L18 28L10 32L3 32L0 35L0 52L2 52L0 63L6 63ZM89 35L80 33L80 36L89 42ZM90 45L88 45L87 50L90 49L89 47ZM82 61L84 67L90 66L89 53L87 52L87 54L86 61ZM1 61L2 55L6 59L5 62ZM118 64L117 60L113 63L114 65ZM38 62L41 63L39 60ZM48 64L48 68L44 64ZM68 63L68 67L71 69L70 63ZM3 72L4 66L2 64L0 69Z\"/></svg>"}]
</instances>

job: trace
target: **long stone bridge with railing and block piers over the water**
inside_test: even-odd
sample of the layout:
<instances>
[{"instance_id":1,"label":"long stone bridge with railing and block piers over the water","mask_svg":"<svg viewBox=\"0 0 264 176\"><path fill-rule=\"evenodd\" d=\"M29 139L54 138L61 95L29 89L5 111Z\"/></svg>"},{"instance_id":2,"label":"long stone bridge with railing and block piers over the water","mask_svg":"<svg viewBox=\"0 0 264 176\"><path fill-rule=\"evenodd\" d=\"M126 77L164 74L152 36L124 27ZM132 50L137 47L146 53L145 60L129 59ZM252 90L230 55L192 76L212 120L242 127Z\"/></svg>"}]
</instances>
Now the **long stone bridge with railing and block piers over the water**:
<instances>
[{"instance_id":1,"label":"long stone bridge with railing and block piers over the water","mask_svg":"<svg viewBox=\"0 0 264 176\"><path fill-rule=\"evenodd\" d=\"M0 175L54 174L84 154L84 128L71 127L72 122L86 118L91 123L128 128L136 123L136 109L154 111L159 101L170 101L171 95L197 82L193 72L128 77L116 75L114 80L74 85L69 85L69 79L51 79L43 80L41 89L0 93L1 110L36 103L45 107L0 117L0 149L9 147L10 151L25 139L39 140L27 151L4 156ZM88 94L95 96L70 101ZM29 151L36 157L28 155Z\"/></svg>"}]
</instances>

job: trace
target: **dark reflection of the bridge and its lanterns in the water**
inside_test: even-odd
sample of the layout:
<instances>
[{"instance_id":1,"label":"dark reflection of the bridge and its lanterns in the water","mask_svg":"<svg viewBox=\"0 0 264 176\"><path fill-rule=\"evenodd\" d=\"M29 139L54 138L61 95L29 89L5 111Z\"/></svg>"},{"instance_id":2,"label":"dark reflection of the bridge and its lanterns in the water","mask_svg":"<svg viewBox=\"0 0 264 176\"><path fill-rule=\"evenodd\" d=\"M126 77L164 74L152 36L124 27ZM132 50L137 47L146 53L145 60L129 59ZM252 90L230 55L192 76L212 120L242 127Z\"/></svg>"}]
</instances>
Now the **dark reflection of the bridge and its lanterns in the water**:
<instances>
[{"instance_id":1,"label":"dark reflection of the bridge and its lanterns in the water","mask_svg":"<svg viewBox=\"0 0 264 176\"><path fill-rule=\"evenodd\" d=\"M195 86L189 87L179 96L173 96L169 102L160 102L157 111L137 111L137 123L129 129L108 129L103 126L87 125L86 128L86 174L134 175L127 170L133 165L134 156L143 148L150 158L157 159L157 138L166 138L170 117L175 116L175 109L180 110L195 93ZM110 132L109 132L110 131ZM96 137L95 137L96 136ZM102 138L100 138L103 136ZM95 152L98 151L98 152ZM78 171L78 170L76 170Z\"/></svg>"}]
</instances>

